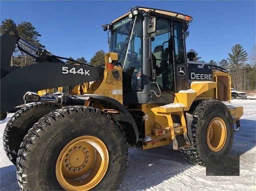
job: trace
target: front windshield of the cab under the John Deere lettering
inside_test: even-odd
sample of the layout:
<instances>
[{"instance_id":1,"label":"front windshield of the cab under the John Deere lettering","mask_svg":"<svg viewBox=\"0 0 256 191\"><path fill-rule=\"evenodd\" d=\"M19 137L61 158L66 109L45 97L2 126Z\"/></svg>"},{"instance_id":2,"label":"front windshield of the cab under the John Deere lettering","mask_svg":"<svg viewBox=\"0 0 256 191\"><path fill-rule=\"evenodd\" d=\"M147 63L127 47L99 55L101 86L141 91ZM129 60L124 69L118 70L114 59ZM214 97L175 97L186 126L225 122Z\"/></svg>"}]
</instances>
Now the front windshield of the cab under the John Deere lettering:
<instances>
[{"instance_id":1,"label":"front windshield of the cab under the John Deere lettering","mask_svg":"<svg viewBox=\"0 0 256 191\"><path fill-rule=\"evenodd\" d=\"M139 16L125 17L113 24L109 51L118 53L116 65L123 67L123 89L141 90L142 26Z\"/></svg>"}]
</instances>

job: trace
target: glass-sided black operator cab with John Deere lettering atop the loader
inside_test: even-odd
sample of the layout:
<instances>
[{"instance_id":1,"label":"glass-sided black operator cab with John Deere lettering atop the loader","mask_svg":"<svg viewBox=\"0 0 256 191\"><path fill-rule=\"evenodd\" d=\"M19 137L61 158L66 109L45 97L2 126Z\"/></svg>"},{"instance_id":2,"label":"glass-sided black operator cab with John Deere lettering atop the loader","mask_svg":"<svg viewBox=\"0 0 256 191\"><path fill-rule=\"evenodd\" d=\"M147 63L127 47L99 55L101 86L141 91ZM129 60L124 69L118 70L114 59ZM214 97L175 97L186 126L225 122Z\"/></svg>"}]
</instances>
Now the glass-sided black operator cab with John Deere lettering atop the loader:
<instances>
[{"instance_id":1,"label":"glass-sided black operator cab with John Deere lettering atop the loader","mask_svg":"<svg viewBox=\"0 0 256 191\"><path fill-rule=\"evenodd\" d=\"M109 52L123 67L123 103L170 103L189 88L185 37L190 16L134 7L103 25L110 30Z\"/></svg>"}]
</instances>

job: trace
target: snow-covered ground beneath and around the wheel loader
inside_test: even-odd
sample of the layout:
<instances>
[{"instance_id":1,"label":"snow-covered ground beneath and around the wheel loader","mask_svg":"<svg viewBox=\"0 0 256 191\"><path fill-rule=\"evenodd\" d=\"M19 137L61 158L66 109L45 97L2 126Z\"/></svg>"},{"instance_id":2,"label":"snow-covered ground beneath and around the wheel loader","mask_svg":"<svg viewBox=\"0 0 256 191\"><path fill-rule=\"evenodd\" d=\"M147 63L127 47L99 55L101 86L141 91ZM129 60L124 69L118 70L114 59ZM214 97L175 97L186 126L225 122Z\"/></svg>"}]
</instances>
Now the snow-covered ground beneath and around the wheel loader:
<instances>
[{"instance_id":1,"label":"snow-covered ground beneath and around the wheel loader","mask_svg":"<svg viewBox=\"0 0 256 191\"><path fill-rule=\"evenodd\" d=\"M129 149L129 164L119 190L256 191L256 100L232 100L244 107L241 130L231 154L240 156L240 176L206 176L206 167L189 163L171 146ZM6 120L0 121L0 144ZM0 146L0 190L19 190L15 166Z\"/></svg>"}]
</instances>

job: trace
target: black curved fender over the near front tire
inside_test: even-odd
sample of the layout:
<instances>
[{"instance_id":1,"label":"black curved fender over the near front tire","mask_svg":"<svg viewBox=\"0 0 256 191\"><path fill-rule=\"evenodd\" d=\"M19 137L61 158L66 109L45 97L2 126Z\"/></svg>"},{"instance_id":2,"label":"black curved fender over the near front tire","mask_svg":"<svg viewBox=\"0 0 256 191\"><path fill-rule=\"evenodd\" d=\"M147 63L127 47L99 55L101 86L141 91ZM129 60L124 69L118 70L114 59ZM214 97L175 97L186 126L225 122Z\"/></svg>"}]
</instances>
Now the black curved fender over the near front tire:
<instances>
[{"instance_id":1,"label":"black curved fender over the near front tire","mask_svg":"<svg viewBox=\"0 0 256 191\"><path fill-rule=\"evenodd\" d=\"M123 128L123 131L125 132L127 142L131 145L135 145L139 139L139 132L137 128L137 124L135 123L135 120L131 116L130 112L121 104L119 101L115 100L114 98L107 97L107 96L101 96L101 95L93 95L93 94L84 94L82 96L79 96L79 98L86 98L90 97L93 98L93 100L97 100L99 102L104 102L103 104L108 106L108 108L114 108L120 112L119 114L113 114L115 118L117 118L117 121L121 125L125 125L126 128Z\"/></svg>"}]
</instances>

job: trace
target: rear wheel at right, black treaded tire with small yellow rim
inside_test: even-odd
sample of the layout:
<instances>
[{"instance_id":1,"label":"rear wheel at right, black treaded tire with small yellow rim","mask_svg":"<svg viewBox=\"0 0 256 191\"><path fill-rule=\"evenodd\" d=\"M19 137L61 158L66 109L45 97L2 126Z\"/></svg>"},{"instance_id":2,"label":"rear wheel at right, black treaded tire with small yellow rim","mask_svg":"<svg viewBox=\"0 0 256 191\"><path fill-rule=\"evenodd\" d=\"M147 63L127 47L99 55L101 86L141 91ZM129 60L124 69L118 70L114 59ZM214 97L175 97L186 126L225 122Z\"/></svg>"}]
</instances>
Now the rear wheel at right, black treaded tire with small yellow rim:
<instances>
[{"instance_id":1,"label":"rear wheel at right, black treaded tire with small yellow rim","mask_svg":"<svg viewBox=\"0 0 256 191\"><path fill-rule=\"evenodd\" d=\"M198 102L191 125L194 149L181 149L191 163L205 166L207 156L228 155L232 148L234 129L228 108L218 100Z\"/></svg>"}]
</instances>

